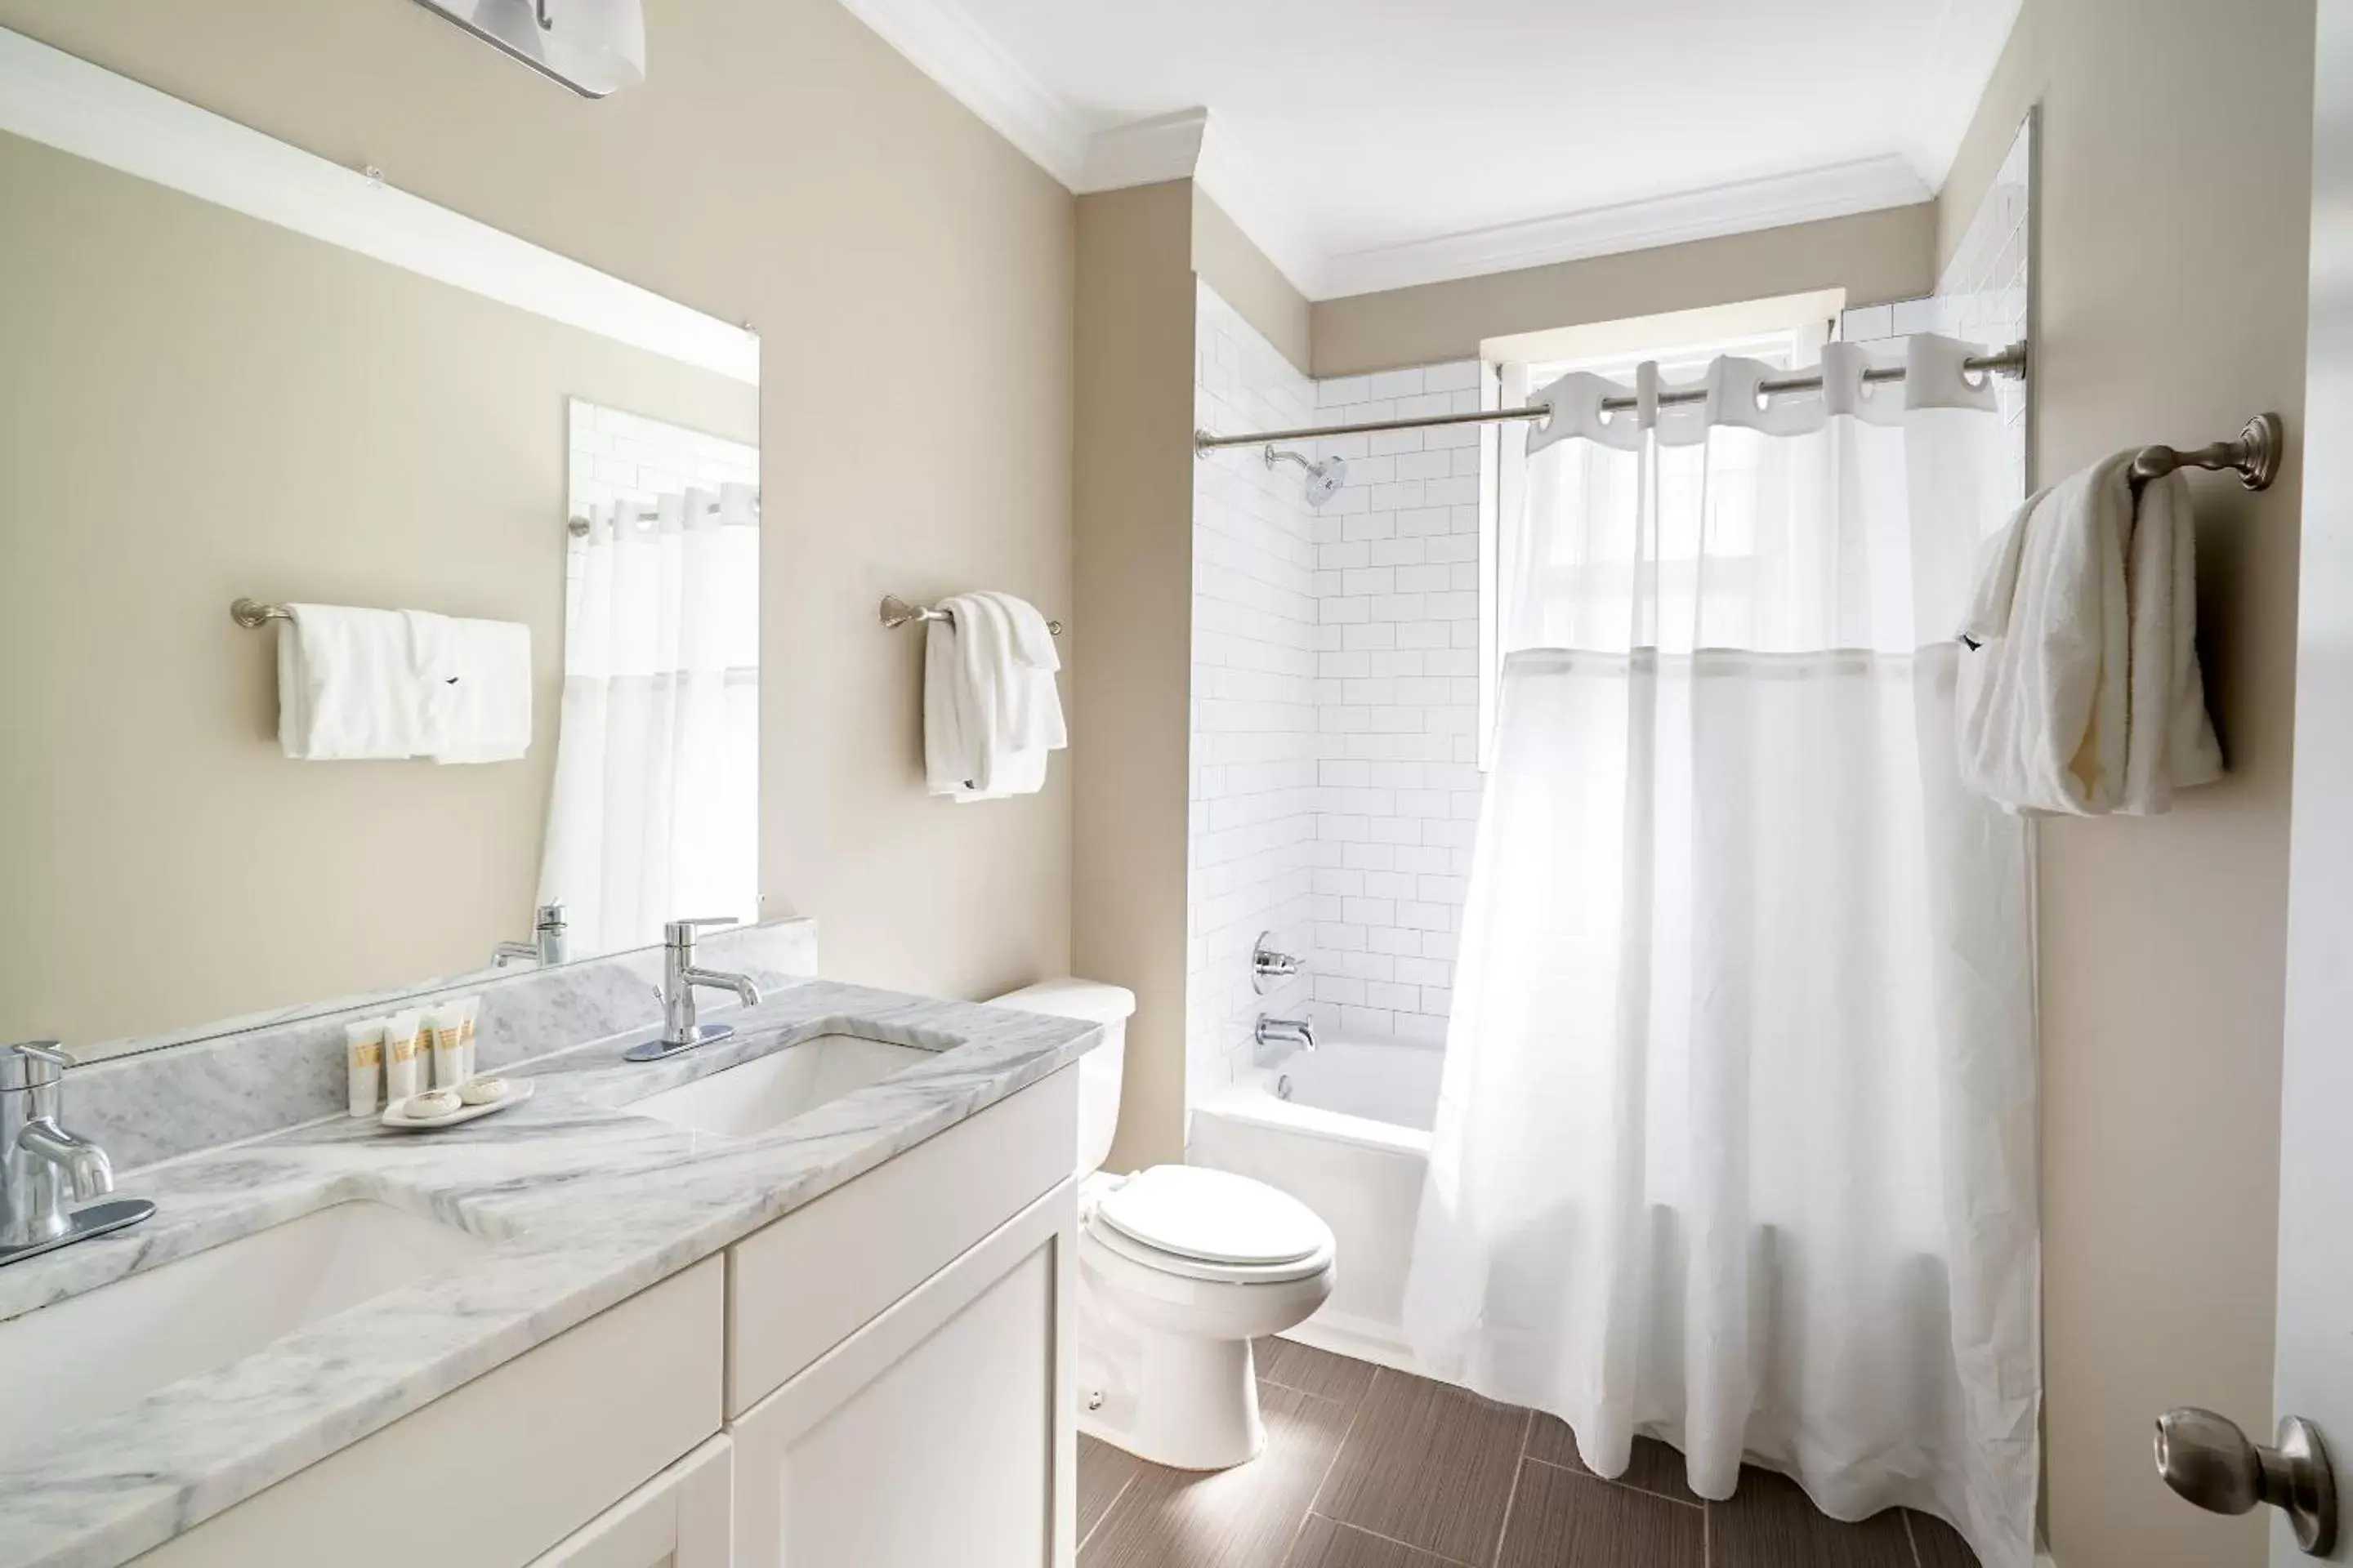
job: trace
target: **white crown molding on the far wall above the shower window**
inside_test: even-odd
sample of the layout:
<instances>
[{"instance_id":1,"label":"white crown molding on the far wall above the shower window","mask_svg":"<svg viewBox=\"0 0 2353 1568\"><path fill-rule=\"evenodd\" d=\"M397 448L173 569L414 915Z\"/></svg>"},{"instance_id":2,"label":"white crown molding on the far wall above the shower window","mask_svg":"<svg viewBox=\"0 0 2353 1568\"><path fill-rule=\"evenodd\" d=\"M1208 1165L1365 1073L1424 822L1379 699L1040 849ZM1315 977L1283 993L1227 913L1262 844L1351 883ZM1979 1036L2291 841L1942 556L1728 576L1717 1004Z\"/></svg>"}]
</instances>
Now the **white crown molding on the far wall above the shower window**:
<instances>
[{"instance_id":1,"label":"white crown molding on the far wall above the shower window","mask_svg":"<svg viewBox=\"0 0 2353 1568\"><path fill-rule=\"evenodd\" d=\"M1565 212L1527 223L1504 223L1461 235L1414 240L1332 256L1315 299L1379 294L1426 282L1513 273L1555 261L1642 252L1687 240L1713 240L1786 223L1842 219L1882 207L1908 207L1934 195L1904 158L1772 174L1765 179L1685 190L1617 207Z\"/></svg>"}]
</instances>

